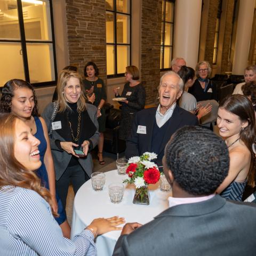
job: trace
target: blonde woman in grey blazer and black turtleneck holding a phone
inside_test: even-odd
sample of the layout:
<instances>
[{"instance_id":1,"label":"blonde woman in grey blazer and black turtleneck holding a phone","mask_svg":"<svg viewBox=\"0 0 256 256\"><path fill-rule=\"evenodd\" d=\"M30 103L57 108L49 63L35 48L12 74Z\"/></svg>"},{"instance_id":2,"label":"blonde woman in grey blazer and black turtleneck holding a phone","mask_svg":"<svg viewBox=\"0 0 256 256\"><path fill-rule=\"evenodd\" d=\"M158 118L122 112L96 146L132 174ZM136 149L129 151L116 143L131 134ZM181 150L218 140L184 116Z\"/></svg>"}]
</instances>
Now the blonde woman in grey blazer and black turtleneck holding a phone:
<instances>
[{"instance_id":1,"label":"blonde woman in grey blazer and black turtleneck holding a phone","mask_svg":"<svg viewBox=\"0 0 256 256\"><path fill-rule=\"evenodd\" d=\"M74 193L90 179L90 151L99 140L97 108L85 103L81 76L62 70L57 84L58 100L44 110L56 174L56 190L66 208L68 186ZM79 151L75 151L79 150Z\"/></svg>"}]
</instances>

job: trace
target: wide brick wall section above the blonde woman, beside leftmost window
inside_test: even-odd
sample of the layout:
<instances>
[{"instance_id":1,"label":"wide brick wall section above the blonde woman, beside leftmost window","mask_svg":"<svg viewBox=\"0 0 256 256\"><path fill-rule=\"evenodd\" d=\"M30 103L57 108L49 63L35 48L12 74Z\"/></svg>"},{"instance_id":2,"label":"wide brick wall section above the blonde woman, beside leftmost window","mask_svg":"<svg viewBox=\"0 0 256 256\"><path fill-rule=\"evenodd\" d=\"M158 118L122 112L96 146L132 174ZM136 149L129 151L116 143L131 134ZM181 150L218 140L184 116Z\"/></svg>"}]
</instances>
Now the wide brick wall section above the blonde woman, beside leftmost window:
<instances>
[{"instance_id":1,"label":"wide brick wall section above the blonde woman, beside leftmost window","mask_svg":"<svg viewBox=\"0 0 256 256\"><path fill-rule=\"evenodd\" d=\"M85 63L94 61L106 84L105 0L66 0L66 15L70 65L83 74Z\"/></svg>"}]
</instances>

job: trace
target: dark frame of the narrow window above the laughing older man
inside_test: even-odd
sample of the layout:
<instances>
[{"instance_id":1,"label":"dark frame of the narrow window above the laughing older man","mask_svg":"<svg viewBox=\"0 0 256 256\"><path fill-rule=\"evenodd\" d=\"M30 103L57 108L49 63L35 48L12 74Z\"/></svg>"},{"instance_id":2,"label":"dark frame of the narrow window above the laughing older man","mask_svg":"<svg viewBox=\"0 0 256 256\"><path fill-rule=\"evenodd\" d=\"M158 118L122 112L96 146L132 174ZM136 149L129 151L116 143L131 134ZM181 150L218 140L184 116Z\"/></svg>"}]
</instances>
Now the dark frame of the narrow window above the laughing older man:
<instances>
[{"instance_id":1,"label":"dark frame of the narrow window above the laughing older man","mask_svg":"<svg viewBox=\"0 0 256 256\"><path fill-rule=\"evenodd\" d=\"M166 2L173 3L173 22L165 21ZM164 13L162 13L163 20L162 20L162 17L161 17L161 30L162 30L162 28L163 28L163 31L161 31L161 34L162 34L162 38L163 38L163 44L162 44L162 42L161 42L160 51L162 51L162 47L163 47L163 54L162 54L162 66L160 67L160 71L167 71L167 70L171 70L172 67L170 67L170 68L164 68L164 47L165 47L165 46L167 46L167 47L172 47L171 54L172 54L172 59L173 59L175 0L163 0L162 3L164 4ZM165 45L165 43L164 43L164 38L165 38L165 23L172 24L172 45ZM164 25L164 26L162 26L162 25ZM161 63L161 53L160 53L160 63Z\"/></svg>"}]
</instances>

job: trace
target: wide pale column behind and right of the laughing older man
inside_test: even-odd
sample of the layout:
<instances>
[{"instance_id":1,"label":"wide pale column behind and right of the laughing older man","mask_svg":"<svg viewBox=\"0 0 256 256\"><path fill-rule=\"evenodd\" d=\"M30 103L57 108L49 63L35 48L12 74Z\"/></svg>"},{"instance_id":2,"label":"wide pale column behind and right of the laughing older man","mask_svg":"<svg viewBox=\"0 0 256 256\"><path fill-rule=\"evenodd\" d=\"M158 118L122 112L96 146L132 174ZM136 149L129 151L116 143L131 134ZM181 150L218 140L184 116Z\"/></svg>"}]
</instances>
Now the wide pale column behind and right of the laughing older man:
<instances>
[{"instance_id":1,"label":"wide pale column behind and right of the laughing older man","mask_svg":"<svg viewBox=\"0 0 256 256\"><path fill-rule=\"evenodd\" d=\"M175 1L174 52L195 68L198 58L202 0Z\"/></svg>"}]
</instances>

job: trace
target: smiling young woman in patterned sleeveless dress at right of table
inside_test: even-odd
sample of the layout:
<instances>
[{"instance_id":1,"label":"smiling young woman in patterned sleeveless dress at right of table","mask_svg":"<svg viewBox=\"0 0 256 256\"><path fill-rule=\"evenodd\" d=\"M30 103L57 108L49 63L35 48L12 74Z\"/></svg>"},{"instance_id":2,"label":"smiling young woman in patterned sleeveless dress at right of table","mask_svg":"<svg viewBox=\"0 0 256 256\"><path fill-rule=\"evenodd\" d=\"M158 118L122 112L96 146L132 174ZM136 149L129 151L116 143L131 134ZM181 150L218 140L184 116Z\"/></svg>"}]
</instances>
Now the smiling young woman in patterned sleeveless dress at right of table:
<instances>
[{"instance_id":1,"label":"smiling young woman in patterned sleeveless dress at right of table","mask_svg":"<svg viewBox=\"0 0 256 256\"><path fill-rule=\"evenodd\" d=\"M244 95L230 95L219 106L217 125L229 151L228 176L217 189L226 199L242 201L246 184L255 176L252 144L256 137L252 102Z\"/></svg>"}]
</instances>

